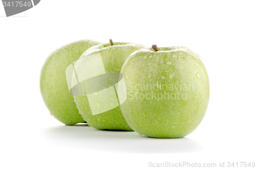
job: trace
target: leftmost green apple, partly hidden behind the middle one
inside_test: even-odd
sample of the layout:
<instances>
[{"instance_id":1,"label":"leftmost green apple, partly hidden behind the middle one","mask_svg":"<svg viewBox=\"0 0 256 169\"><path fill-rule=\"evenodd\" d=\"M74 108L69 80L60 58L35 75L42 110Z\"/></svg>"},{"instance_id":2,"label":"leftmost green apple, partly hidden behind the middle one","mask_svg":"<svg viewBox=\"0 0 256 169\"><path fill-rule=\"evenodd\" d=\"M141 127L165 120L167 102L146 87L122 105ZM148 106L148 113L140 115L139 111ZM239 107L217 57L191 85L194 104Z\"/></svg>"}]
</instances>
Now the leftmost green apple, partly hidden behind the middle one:
<instances>
[{"instance_id":1,"label":"leftmost green apple, partly hidden behind the middle one","mask_svg":"<svg viewBox=\"0 0 256 169\"><path fill-rule=\"evenodd\" d=\"M66 68L77 61L81 54L94 45L95 40L79 40L52 52L46 59L40 73L40 91L46 107L59 122L66 125L83 123L74 97L69 93Z\"/></svg>"}]
</instances>

